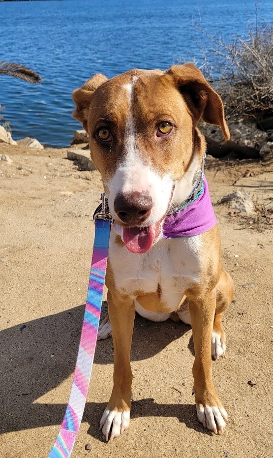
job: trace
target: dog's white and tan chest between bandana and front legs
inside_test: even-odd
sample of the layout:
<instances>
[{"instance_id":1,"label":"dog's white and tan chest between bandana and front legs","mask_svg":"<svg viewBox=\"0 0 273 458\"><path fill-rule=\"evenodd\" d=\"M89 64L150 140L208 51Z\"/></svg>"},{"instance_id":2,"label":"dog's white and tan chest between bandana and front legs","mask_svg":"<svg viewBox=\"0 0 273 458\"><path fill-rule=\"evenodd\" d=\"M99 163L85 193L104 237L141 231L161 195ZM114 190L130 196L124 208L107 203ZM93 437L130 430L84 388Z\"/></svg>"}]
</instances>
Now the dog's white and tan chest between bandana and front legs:
<instances>
[{"instance_id":1,"label":"dog's white and tan chest between bandana and front legs","mask_svg":"<svg viewBox=\"0 0 273 458\"><path fill-rule=\"evenodd\" d=\"M139 298L144 308L174 311L189 285L199 283L202 236L163 239L145 254L130 253L115 238L111 233L109 261L115 288Z\"/></svg>"}]
</instances>

